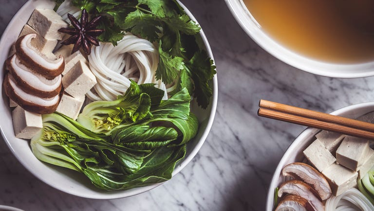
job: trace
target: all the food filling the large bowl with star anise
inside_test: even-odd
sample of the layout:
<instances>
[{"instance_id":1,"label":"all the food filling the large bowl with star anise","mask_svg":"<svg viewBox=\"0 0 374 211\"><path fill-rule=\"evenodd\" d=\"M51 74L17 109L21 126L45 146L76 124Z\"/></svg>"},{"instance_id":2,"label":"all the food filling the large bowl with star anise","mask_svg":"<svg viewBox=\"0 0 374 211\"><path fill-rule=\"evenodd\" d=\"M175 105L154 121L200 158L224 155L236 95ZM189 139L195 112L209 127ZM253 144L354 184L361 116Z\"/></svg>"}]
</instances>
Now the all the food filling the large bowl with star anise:
<instances>
[{"instance_id":1,"label":"all the food filling the large bowl with star anise","mask_svg":"<svg viewBox=\"0 0 374 211\"><path fill-rule=\"evenodd\" d=\"M23 73L16 80L10 70L3 80L15 107L15 136L31 139L38 159L83 173L103 190L171 178L198 133L193 110L207 108L213 95L215 66L199 44L199 25L179 3L127 3L73 0L57 12L36 8L26 35L13 40L13 63L7 60L8 69ZM42 84L31 86L29 75ZM56 94L51 86L61 84ZM40 94L46 90L53 99ZM199 109L191 109L192 99Z\"/></svg>"}]
</instances>

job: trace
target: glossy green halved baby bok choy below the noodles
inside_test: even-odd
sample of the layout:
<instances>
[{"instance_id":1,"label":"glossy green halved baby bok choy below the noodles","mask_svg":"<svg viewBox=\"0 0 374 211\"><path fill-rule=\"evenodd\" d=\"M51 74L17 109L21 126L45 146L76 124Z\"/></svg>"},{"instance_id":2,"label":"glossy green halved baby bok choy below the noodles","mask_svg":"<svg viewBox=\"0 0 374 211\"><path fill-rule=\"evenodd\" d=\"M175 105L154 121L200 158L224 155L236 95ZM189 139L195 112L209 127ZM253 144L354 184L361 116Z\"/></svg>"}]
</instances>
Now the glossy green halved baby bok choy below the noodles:
<instances>
[{"instance_id":1,"label":"glossy green halved baby bok choy below the noodles","mask_svg":"<svg viewBox=\"0 0 374 211\"><path fill-rule=\"evenodd\" d=\"M86 105L77 121L43 115L43 129L31 140L34 155L45 162L86 175L98 188L127 190L171 178L197 133L182 89L161 100L153 84L131 83L116 101Z\"/></svg>"}]
</instances>

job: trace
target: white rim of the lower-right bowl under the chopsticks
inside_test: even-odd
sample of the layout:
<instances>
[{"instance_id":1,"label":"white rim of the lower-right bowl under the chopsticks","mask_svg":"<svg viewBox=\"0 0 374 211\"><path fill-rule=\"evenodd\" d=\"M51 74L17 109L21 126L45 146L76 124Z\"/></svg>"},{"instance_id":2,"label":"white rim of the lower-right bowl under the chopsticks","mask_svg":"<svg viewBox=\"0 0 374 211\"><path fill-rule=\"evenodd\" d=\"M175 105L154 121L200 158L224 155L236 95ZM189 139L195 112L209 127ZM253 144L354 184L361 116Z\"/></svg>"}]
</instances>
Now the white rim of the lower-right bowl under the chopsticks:
<instances>
[{"instance_id":1,"label":"white rim of the lower-right bowl under the chopsticks","mask_svg":"<svg viewBox=\"0 0 374 211\"><path fill-rule=\"evenodd\" d=\"M339 115L339 116L347 116L349 114L354 114L357 117L365 115L367 112L363 112L363 109L365 108L371 108L371 111L374 111L374 102L366 102L366 103L359 103L354 105L348 105L342 108L339 108L330 114L332 115ZM357 113L351 113L354 112L357 109L362 109L362 112ZM266 211L273 211L273 205L274 205L274 190L278 186L277 182L278 179L281 176L281 170L282 168L287 164L287 161L289 157L292 154L295 154L296 148L305 142L311 141L311 138L315 136L320 129L307 127L305 130L303 130L299 136L290 144L290 146L287 148L285 153L283 154L281 160L279 161L276 170L274 171L274 174L271 178L271 182L269 184L267 197L266 197Z\"/></svg>"}]
</instances>

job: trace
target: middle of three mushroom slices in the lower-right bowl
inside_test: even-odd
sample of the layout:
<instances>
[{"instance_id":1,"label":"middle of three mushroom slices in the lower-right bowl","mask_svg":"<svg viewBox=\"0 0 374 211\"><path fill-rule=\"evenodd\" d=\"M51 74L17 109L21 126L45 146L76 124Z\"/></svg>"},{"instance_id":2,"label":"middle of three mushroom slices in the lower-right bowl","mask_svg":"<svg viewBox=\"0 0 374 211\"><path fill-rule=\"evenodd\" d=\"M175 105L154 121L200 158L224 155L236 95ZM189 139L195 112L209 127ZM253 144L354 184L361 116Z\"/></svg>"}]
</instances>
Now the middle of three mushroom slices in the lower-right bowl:
<instances>
[{"instance_id":1,"label":"middle of three mushroom slices in the lower-right bowl","mask_svg":"<svg viewBox=\"0 0 374 211\"><path fill-rule=\"evenodd\" d=\"M281 197L283 193L294 194L305 198L316 211L324 211L325 209L322 202L316 196L316 191L300 180L289 180L282 183L278 190L278 196Z\"/></svg>"}]
</instances>

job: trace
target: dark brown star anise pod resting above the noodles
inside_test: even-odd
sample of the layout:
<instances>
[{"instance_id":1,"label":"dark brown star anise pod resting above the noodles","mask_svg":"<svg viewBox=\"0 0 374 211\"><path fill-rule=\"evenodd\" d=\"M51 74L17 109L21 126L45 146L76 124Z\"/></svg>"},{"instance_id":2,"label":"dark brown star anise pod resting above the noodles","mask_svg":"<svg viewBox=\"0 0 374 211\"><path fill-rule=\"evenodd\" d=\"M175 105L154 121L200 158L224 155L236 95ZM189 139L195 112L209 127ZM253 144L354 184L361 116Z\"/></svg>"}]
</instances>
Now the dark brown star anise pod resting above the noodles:
<instances>
[{"instance_id":1,"label":"dark brown star anise pod resting above the noodles","mask_svg":"<svg viewBox=\"0 0 374 211\"><path fill-rule=\"evenodd\" d=\"M96 36L104 32L104 29L96 29L101 16L97 16L96 18L93 18L90 22L88 22L88 13L86 9L83 9L80 23L71 14L68 14L68 18L70 19L70 22L72 23L74 28L61 28L58 31L72 36L61 42L61 44L74 44L72 54L78 51L80 47L83 47L86 54L90 55L91 44L99 46L99 41L96 39Z\"/></svg>"}]
</instances>

